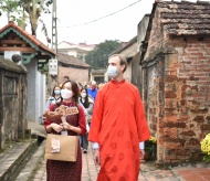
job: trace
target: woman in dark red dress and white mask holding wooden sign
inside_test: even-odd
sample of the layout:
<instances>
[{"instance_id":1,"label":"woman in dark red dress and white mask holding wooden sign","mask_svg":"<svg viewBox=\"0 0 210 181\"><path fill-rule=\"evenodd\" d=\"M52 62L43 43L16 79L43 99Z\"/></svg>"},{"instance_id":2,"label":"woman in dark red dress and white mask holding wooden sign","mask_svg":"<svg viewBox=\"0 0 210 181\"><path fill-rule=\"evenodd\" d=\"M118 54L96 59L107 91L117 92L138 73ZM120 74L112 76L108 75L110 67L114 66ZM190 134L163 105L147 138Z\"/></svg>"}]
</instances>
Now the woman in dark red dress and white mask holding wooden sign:
<instances>
[{"instance_id":1,"label":"woman in dark red dress and white mask holding wooden sign","mask_svg":"<svg viewBox=\"0 0 210 181\"><path fill-rule=\"evenodd\" d=\"M48 134L61 135L63 132L69 136L85 135L86 120L82 106L78 104L80 91L78 86L73 81L66 81L62 85L61 105L67 107L77 107L78 114L65 115L66 123L62 123L61 118L56 120L45 120L44 127ZM57 108L59 105L55 105ZM50 111L54 111L54 106L50 106ZM82 152L80 143L77 146L77 159L75 162L46 160L46 180L48 181L81 181L82 175Z\"/></svg>"}]
</instances>

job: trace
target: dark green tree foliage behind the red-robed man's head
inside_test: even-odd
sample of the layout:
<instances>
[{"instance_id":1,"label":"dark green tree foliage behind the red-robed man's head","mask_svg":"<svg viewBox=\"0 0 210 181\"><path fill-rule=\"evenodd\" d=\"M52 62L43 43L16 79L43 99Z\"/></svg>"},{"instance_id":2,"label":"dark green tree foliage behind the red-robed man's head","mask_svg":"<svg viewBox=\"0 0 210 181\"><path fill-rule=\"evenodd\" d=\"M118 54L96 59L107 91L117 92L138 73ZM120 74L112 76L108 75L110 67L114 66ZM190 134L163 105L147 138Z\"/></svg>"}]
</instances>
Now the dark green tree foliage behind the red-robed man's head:
<instances>
[{"instance_id":1,"label":"dark green tree foliage behind the red-robed man's head","mask_svg":"<svg viewBox=\"0 0 210 181\"><path fill-rule=\"evenodd\" d=\"M105 68L107 66L108 55L120 47L119 41L106 40L88 52L85 56L87 64L95 68Z\"/></svg>"}]
</instances>

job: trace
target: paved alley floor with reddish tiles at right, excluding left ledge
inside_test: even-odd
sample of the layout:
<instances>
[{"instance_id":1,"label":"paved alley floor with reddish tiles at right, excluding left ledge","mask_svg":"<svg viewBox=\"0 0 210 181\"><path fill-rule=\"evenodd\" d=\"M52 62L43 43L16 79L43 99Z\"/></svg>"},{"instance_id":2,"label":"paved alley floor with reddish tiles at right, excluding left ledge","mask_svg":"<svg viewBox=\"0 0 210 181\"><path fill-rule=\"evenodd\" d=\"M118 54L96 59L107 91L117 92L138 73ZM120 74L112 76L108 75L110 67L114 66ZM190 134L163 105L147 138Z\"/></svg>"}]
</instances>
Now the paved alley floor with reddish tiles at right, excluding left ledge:
<instances>
[{"instance_id":1,"label":"paved alley floor with reddish tiles at right, excluding left ledge","mask_svg":"<svg viewBox=\"0 0 210 181\"><path fill-rule=\"evenodd\" d=\"M96 181L99 168L94 164L93 151L88 148L87 153L83 153L82 181ZM45 181L45 160L39 164L32 178L33 181ZM176 167L168 170L158 169L154 162L145 162L140 166L139 181L210 181L210 166L197 164Z\"/></svg>"}]
</instances>

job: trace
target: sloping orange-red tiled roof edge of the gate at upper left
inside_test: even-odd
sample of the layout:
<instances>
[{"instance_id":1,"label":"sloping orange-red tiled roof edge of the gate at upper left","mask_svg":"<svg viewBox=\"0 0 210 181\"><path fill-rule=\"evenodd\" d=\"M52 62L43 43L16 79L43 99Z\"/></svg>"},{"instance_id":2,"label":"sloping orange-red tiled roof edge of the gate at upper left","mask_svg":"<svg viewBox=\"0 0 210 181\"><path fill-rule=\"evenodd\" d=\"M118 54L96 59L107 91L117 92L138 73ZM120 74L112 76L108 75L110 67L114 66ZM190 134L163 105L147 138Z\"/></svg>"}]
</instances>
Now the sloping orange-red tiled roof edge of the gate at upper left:
<instances>
[{"instance_id":1,"label":"sloping orange-red tiled roof edge of the gate at upper left","mask_svg":"<svg viewBox=\"0 0 210 181\"><path fill-rule=\"evenodd\" d=\"M0 29L0 34L6 31L9 28L13 28L17 31L19 31L23 36L25 36L29 41L31 41L34 45L36 45L40 49L43 49L44 51L55 55L55 52L53 52L51 49L49 49L46 45L44 45L41 41L39 41L35 36L29 34L25 30L21 29L20 26L15 25L12 21L10 21L6 26Z\"/></svg>"}]
</instances>

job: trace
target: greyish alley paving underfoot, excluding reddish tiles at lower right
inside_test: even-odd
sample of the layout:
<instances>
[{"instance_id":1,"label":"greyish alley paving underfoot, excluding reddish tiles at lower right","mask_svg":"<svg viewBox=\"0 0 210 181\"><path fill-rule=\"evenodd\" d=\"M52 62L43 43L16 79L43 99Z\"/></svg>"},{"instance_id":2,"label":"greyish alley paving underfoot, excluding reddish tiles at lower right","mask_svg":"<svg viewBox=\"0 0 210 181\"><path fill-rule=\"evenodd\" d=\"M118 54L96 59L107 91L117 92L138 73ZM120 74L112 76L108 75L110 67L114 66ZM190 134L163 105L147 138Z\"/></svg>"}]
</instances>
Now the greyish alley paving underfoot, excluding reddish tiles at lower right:
<instances>
[{"instance_id":1,"label":"greyish alley paving underfoot, excluding reddish tiles at lower right","mask_svg":"<svg viewBox=\"0 0 210 181\"><path fill-rule=\"evenodd\" d=\"M93 160L92 145L90 143L87 153L83 153L83 166L82 166L82 181L96 181L99 172L99 167L96 167ZM155 162L148 161L140 164L139 181L186 181L181 175L177 174L176 170L189 168L190 166L180 166L177 168L160 169L155 166ZM197 164L193 168L203 168L203 166ZM32 181L45 181L45 160L42 158L38 170L34 172ZM190 180L191 181L191 180Z\"/></svg>"}]
</instances>

